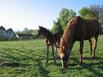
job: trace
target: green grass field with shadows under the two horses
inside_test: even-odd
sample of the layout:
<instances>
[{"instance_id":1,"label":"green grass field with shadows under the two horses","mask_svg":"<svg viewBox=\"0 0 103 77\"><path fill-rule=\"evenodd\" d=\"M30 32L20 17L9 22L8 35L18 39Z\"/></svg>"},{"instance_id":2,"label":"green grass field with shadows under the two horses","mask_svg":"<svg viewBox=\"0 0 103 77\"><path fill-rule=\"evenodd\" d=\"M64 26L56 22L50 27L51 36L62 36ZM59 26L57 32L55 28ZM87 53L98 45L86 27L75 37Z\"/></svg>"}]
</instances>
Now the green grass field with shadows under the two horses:
<instances>
[{"instance_id":1,"label":"green grass field with shadows under the two horses","mask_svg":"<svg viewBox=\"0 0 103 77\"><path fill-rule=\"evenodd\" d=\"M88 41L84 45L83 65L79 64L79 42L76 42L69 66L61 70L60 60L53 64L50 49L50 60L45 66L44 40L0 42L0 77L103 77L103 36L99 36L96 59L90 58Z\"/></svg>"}]
</instances>

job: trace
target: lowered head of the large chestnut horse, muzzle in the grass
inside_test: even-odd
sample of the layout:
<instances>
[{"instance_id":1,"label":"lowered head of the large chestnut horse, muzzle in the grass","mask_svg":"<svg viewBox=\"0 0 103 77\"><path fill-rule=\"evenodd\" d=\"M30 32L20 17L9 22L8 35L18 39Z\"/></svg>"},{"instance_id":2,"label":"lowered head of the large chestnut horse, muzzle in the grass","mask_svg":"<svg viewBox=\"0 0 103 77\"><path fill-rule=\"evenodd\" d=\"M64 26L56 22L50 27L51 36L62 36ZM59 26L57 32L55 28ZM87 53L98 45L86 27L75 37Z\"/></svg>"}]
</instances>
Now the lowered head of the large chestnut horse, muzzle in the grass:
<instances>
[{"instance_id":1,"label":"lowered head of the large chestnut horse, muzzle in the grass","mask_svg":"<svg viewBox=\"0 0 103 77\"><path fill-rule=\"evenodd\" d=\"M60 47L58 49L58 56L61 59L62 67L67 68L67 62L68 62L68 50L66 49L65 42L63 39L60 40Z\"/></svg>"}]
</instances>

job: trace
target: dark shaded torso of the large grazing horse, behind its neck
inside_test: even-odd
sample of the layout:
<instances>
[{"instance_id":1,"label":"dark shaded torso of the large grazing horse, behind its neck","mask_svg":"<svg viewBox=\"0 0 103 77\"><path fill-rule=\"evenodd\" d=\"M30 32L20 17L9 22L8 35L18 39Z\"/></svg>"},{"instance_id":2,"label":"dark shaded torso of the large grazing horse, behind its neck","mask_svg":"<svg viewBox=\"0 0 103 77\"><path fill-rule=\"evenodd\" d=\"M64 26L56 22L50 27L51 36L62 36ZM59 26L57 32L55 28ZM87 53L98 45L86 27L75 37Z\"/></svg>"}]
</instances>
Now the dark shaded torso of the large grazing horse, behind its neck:
<instances>
[{"instance_id":1,"label":"dark shaded torso of the large grazing horse, behind its neck","mask_svg":"<svg viewBox=\"0 0 103 77\"><path fill-rule=\"evenodd\" d=\"M88 40L91 37L97 37L99 34L99 22L97 19L84 20L80 19L77 21L79 24L76 26L75 38L77 40L85 39Z\"/></svg>"}]
</instances>

